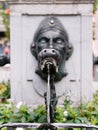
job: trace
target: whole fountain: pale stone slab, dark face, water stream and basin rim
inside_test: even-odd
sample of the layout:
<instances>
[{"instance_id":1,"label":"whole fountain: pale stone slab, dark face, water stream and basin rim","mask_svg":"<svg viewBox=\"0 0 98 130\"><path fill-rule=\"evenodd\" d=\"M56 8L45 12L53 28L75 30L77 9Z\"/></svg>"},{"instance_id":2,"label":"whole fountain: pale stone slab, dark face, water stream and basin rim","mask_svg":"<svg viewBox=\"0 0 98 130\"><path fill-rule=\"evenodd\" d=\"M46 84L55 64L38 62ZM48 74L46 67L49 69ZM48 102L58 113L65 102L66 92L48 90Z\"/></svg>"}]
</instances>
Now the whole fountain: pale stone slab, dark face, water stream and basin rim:
<instances>
[{"instance_id":1,"label":"whole fountain: pale stone slab, dark face, water stream and basin rim","mask_svg":"<svg viewBox=\"0 0 98 130\"><path fill-rule=\"evenodd\" d=\"M75 102L92 98L89 70L92 70L94 0L9 0L9 3L12 98L16 103L22 100L33 106L43 104L44 99L47 122L7 126L50 130L97 128L55 123L58 97L67 89L72 91Z\"/></svg>"}]
</instances>

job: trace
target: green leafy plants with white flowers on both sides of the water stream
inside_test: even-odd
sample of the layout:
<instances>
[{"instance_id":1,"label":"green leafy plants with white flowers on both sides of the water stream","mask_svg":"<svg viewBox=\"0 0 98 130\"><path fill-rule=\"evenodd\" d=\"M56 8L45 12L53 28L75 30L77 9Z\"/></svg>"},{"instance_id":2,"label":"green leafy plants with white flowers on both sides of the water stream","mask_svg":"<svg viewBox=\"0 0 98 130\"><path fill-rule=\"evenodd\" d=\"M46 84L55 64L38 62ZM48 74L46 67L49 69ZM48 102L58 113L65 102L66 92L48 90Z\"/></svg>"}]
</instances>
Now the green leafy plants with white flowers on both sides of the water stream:
<instances>
[{"instance_id":1,"label":"green leafy plants with white flowers on both sides of the water stream","mask_svg":"<svg viewBox=\"0 0 98 130\"><path fill-rule=\"evenodd\" d=\"M33 109L23 103L19 104L0 104L0 124L8 122L46 122L45 106L40 105ZM77 107L72 106L69 98L66 98L64 105L56 108L56 122L98 125L98 91L94 94L93 101L80 104Z\"/></svg>"}]
</instances>

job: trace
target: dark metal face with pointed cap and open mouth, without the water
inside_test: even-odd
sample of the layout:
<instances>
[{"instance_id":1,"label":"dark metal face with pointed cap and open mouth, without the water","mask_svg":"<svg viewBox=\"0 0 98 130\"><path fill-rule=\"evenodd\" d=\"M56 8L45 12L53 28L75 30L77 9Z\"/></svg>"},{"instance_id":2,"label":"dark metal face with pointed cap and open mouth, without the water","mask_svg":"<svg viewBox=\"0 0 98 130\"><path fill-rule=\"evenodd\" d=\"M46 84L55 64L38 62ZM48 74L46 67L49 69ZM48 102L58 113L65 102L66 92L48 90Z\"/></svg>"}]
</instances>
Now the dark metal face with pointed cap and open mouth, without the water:
<instances>
[{"instance_id":1,"label":"dark metal face with pointed cap and open mouth, without the water","mask_svg":"<svg viewBox=\"0 0 98 130\"><path fill-rule=\"evenodd\" d=\"M40 23L31 44L31 52L38 60L36 73L47 80L47 65L50 64L50 74L55 76L55 81L61 80L67 75L65 62L72 50L61 22L56 17L47 17Z\"/></svg>"}]
</instances>

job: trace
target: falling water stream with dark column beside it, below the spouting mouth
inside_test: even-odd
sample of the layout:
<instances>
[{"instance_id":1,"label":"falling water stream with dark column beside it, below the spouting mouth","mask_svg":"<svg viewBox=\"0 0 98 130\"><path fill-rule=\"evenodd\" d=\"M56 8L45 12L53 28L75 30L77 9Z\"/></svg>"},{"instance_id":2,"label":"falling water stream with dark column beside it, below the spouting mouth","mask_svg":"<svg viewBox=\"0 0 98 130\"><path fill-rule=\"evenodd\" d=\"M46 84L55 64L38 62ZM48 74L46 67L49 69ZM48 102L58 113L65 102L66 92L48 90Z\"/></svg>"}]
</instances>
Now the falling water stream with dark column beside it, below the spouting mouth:
<instances>
[{"instance_id":1,"label":"falling water stream with dark column beside it, below the spouting mouth","mask_svg":"<svg viewBox=\"0 0 98 130\"><path fill-rule=\"evenodd\" d=\"M46 113L47 113L47 123L55 122L55 112L57 105L56 91L54 86L54 74L53 64L51 62L47 62L45 64L47 70L47 91L45 93L45 105L46 105ZM56 130L54 128L50 128L48 130Z\"/></svg>"}]
</instances>

